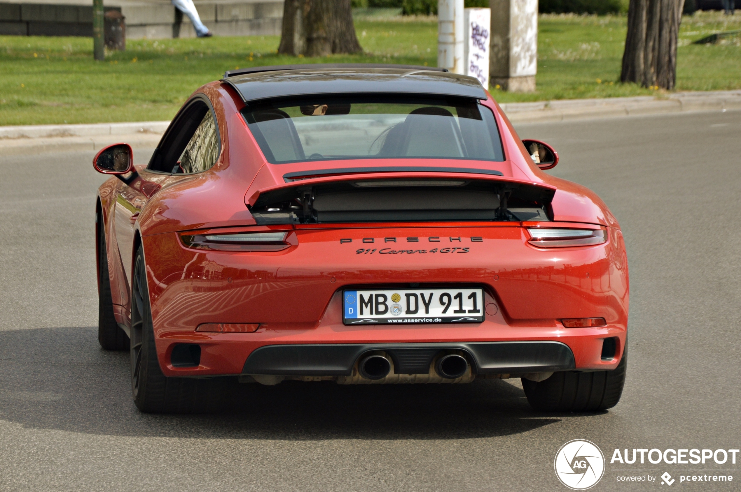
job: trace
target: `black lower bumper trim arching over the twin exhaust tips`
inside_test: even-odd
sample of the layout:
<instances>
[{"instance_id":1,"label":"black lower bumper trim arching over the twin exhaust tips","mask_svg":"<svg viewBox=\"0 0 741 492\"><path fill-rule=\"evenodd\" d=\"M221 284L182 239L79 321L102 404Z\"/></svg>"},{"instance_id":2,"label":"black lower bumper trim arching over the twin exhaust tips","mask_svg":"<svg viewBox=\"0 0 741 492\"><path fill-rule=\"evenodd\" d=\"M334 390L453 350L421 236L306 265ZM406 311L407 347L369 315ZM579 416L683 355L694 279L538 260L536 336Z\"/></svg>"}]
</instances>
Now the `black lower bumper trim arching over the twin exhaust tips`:
<instances>
[{"instance_id":1,"label":"black lower bumper trim arching over the twin exhaust tips","mask_svg":"<svg viewBox=\"0 0 741 492\"><path fill-rule=\"evenodd\" d=\"M463 351L476 374L566 371L574 353L560 342L479 343L328 343L270 345L247 358L242 374L350 376L356 362L371 351L391 356L396 374L427 374L442 351Z\"/></svg>"}]
</instances>

